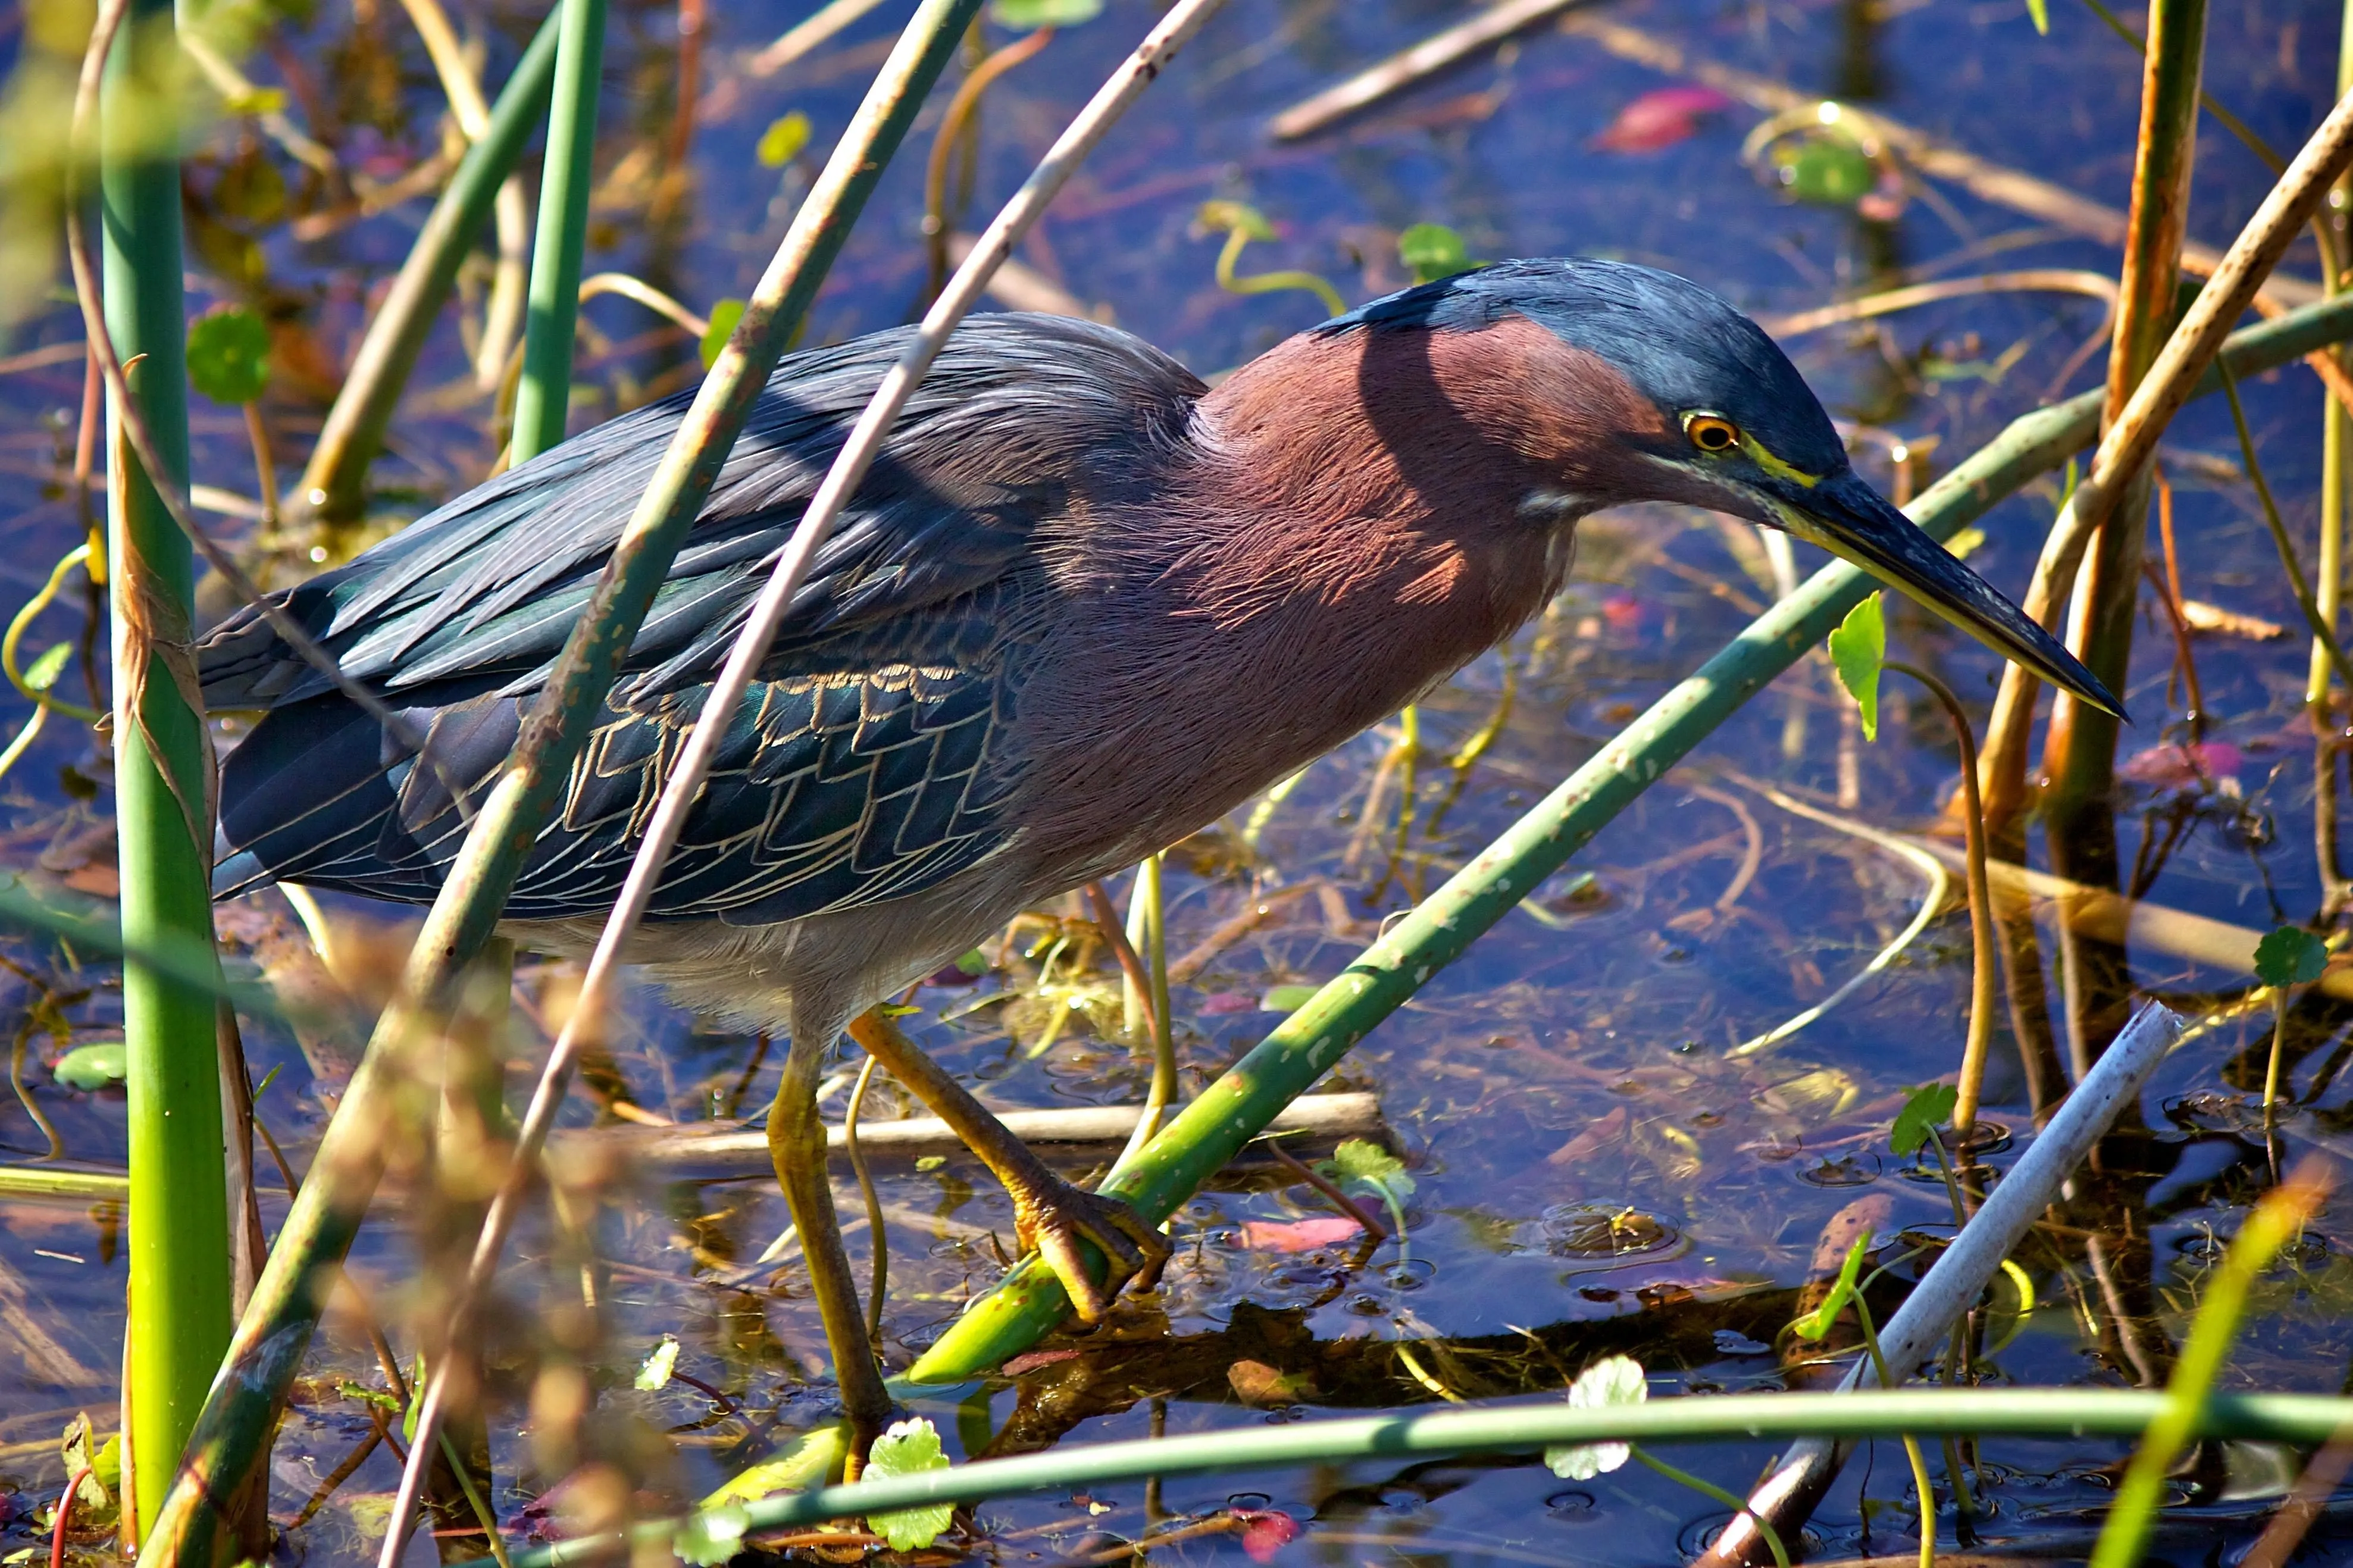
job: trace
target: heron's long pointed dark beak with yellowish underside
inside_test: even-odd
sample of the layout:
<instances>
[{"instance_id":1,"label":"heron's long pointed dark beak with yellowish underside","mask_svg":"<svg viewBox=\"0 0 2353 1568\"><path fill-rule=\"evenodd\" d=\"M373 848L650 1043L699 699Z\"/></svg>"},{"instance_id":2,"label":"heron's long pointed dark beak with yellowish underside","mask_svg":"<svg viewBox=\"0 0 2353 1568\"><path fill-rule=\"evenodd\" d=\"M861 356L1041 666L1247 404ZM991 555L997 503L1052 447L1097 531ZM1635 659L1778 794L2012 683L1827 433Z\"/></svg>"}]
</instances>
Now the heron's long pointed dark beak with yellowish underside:
<instances>
[{"instance_id":1,"label":"heron's long pointed dark beak with yellowish underside","mask_svg":"<svg viewBox=\"0 0 2353 1568\"><path fill-rule=\"evenodd\" d=\"M2061 692L2125 718L2125 704L2075 655L2002 598L1993 584L1948 556L1941 544L1897 511L1852 469L1812 490L1774 497L1777 511L1802 539L1842 556L1889 589L1920 600L1993 652L2040 676Z\"/></svg>"}]
</instances>

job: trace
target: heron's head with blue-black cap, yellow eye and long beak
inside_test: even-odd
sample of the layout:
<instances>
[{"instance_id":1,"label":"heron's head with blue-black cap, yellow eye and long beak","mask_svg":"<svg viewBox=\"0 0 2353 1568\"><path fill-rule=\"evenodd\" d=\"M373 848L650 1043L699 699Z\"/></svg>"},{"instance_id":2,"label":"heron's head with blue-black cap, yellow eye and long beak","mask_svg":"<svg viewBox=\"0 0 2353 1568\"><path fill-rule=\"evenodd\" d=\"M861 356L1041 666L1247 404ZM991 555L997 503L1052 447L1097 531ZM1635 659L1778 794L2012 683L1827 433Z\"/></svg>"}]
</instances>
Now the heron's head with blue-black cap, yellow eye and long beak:
<instances>
[{"instance_id":1,"label":"heron's head with blue-black cap, yellow eye and long beak","mask_svg":"<svg viewBox=\"0 0 2353 1568\"><path fill-rule=\"evenodd\" d=\"M1529 511L1581 516L1682 501L1779 527L1908 593L2005 659L2108 713L2118 699L2066 647L1944 551L1847 461L1805 377L1708 290L1621 261L1504 261L1329 323L1334 330L1527 332L1569 353L1511 356L1511 398L1551 405L1560 487ZM1529 365L1541 363L1534 384Z\"/></svg>"}]
</instances>

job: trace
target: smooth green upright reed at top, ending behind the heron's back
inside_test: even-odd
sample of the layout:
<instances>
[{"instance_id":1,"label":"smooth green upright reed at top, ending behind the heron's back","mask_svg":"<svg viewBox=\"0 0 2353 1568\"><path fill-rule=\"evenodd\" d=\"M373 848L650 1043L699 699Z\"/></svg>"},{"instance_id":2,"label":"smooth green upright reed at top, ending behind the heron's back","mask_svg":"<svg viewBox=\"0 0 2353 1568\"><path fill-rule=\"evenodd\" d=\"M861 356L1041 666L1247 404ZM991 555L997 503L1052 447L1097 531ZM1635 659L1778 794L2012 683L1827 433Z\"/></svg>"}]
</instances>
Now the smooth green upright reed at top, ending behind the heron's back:
<instances>
[{"instance_id":1,"label":"smooth green upright reed at top, ending behind the heron's back","mask_svg":"<svg viewBox=\"0 0 2353 1568\"><path fill-rule=\"evenodd\" d=\"M527 464L565 438L572 407L572 327L581 308L581 254L595 179L595 101L605 80L605 0L562 0L555 38L555 97L548 158L539 179L539 235L522 318L522 384L508 466Z\"/></svg>"}]
</instances>

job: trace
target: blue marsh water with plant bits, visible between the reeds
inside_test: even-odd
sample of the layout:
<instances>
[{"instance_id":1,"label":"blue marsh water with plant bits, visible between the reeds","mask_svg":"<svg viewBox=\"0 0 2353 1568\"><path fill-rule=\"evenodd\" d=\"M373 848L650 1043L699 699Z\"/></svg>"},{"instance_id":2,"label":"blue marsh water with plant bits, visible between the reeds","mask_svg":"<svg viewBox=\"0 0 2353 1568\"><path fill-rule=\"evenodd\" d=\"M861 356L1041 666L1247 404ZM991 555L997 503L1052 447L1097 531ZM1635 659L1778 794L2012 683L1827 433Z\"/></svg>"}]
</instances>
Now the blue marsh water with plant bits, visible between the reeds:
<instances>
[{"instance_id":1,"label":"blue marsh water with plant bits, visible between the reeds","mask_svg":"<svg viewBox=\"0 0 2353 1568\"><path fill-rule=\"evenodd\" d=\"M536 12L461 0L461 33L487 45L504 78ZM605 59L598 207L588 273L638 275L694 313L751 290L816 160L842 129L866 75L904 21L887 0L831 42L758 75L751 57L809 7L619 0ZM699 21L692 115L678 111L680 16ZM1155 7L1115 0L1061 31L1045 54L986 97L969 167L951 165L962 226L976 228L1026 174L1094 82L1144 33ZM1240 297L1217 287L1221 235L1202 202L1264 212L1275 238L1240 271L1306 268L1351 301L1409 283L1398 235L1414 224L1461 233L1471 257L1605 254L1708 283L1760 315L1922 278L2019 268L2113 275L2115 247L1991 205L1958 184L1882 184L1845 200L1800 200L1772 158L1744 162L1765 118L1734 99L1647 99L1689 87L1612 52L1593 33L1544 24L1473 54L1332 129L1278 141L1268 120L1306 94L1464 16L1435 0L1233 0L1155 85L1054 205L1021 261L1106 320L1200 372L1233 367L1322 311L1306 292ZM1798 94L1833 94L1913 125L1993 165L2033 172L2122 207L2139 113L2139 59L2078 0L2052 0L2038 35L2024 0L1852 0L1753 5L1647 2L1602 14ZM2139 24L2137 14L2125 16ZM9 21L19 59L38 31ZM2337 75L2334 7L2249 0L2214 7L2205 82L2275 148L2294 148ZM1009 38L991 26L988 42ZM395 5L325 0L289 7L245 61L285 87L287 113L353 170L398 179L442 146L445 99ZM1619 40L1624 42L1624 38ZM1628 115L1628 106L1638 113ZM805 151L774 129L807 115ZM1645 118L1647 115L1647 118ZM922 299L922 153L936 108L833 268L807 341L906 320ZM762 155L762 139L767 153ZM369 304L381 297L426 212L334 214L252 120L202 132L188 174L191 313L261 308L275 330L264 403L285 480L318 431ZM536 170L536 162L529 165ZM1793 177L1795 179L1795 177ZM1812 179L1812 174L1807 174ZM2221 247L2268 188L2264 162L2207 120L2191 235ZM536 188L536 186L534 186ZM1821 195L1817 191L1817 195ZM299 233L296 233L299 231ZM2287 271L2311 278L2311 242ZM282 582L482 478L496 452L489 393L456 315L480 315L480 278L461 290L419 365L391 450L374 464L362 527L282 544ZM1786 337L1847 424L1868 478L1918 492L1934 473L2040 403L2099 384L2099 299L2002 292ZM626 297L584 311L572 428L689 386L696 341ZM71 306L40 306L9 353L71 344ZM35 356L38 360L38 356ZM80 358L0 377L0 473L9 549L0 605L28 600L80 539L71 485L82 398ZM2320 483L2320 386L2289 367L2245 388L2264 471L2311 558ZM245 421L195 400L195 478L254 494ZM2165 445L2181 591L2235 617L2297 624L2297 607L2247 485L2226 407L2193 405ZM2019 593L2059 499L2031 485L1984 520L1974 563ZM214 523L249 534L252 518ZM1819 556L1798 546L1800 570ZM1755 534L1701 513L1609 513L1586 527L1562 598L1513 643L1419 706L1419 751L1400 725L1358 737L1311 768L1271 808L1238 812L1169 855L1169 951L1200 954L1174 991L1184 1088L1193 1092L1257 1043L1313 986L1482 843L1541 798L1617 727L1732 638L1774 596ZM2195 638L2205 695L2202 751L2179 749L2184 702L2174 638L2144 598L2115 798L2120 859L2153 904L2249 930L2311 921L2325 899L2315 857L2315 739L2304 713L2301 636L2212 631ZM35 622L28 657L80 636L80 577ZM2254 626L2254 631L2261 631ZM1955 633L1899 610L1894 647L1939 671L1979 723L1998 666ZM80 673L61 687L80 697ZM1233 704L1315 704L1313 690L1238 685ZM0 697L0 725L28 706ZM1247 1163L1176 1217L1165 1285L1092 1335L1068 1335L1007 1375L918 1403L953 1455L1155 1431L1252 1429L1334 1410L1426 1406L1442 1396L1558 1394L1600 1354L1638 1356L1652 1396L1784 1387L1784 1323L1817 1274L1826 1229L1864 1217L1882 1236L1951 1227L1934 1165L1899 1158L1887 1123L1906 1090L1953 1074L1969 994L1969 932L1958 909L1932 921L1894 963L1769 1050L1734 1055L1852 979L1929 895L1913 859L1842 824L1927 829L1955 777L1941 716L1889 683L1875 744L1864 744L1828 666L1777 680L1689 760L1539 888L1473 951L1386 1019L1325 1088L1379 1097L1381 1130L1412 1177L1407 1236L1365 1245L1332 1205L1271 1163ZM9 871L113 892L108 765L89 732L54 723L14 763L0 826ZM1800 812L1793 805L1809 808ZM2040 857L2040 833L2033 841ZM1120 890L1125 895L1125 890ZM1235 916L1264 906L1240 928ZM405 911L329 902L367 970L398 946ZM1068 909L1045 909L981 949L976 975L944 975L904 1022L993 1107L1132 1104L1146 1052L1122 1031L1118 972ZM2047 911L2045 911L2047 916ZM224 909L233 954L266 975L296 970L301 935L273 892ZM2045 918L2042 951L2054 954ZM0 1099L0 1151L49 1151L120 1165L115 1090L73 1090L56 1059L120 1038L115 972L54 939L12 939L0 982L16 1041L21 1099ZM249 965L240 972L252 972ZM360 975L365 991L365 975ZM2162 1377L2200 1283L2273 1158L2339 1151L2348 1137L2341 1064L2353 1050L2339 1003L2299 1003L2287 1034L2289 1099L2266 1149L2259 1095L2266 1008L2235 1001L2247 975L2202 968L2155 944L2129 949L2129 984L2172 998L2209 1026L2160 1069L2129 1130L2075 1189L2064 1222L2021 1250L2033 1307L1988 1309L1974 1375L1993 1384L2139 1387ZM2057 968L2049 989L2061 991ZM525 958L508 1041L520 1097L560 1012L565 975ZM2099 1041L2057 1052L2080 1071ZM259 1116L301 1168L358 1050L353 1029L301 1038L268 1012L245 1022ZM621 1045L574 1090L572 1128L755 1116L774 1052L751 1036L696 1026L635 994ZM840 1116L842 1095L828 1099ZM882 1085L866 1116L911 1107ZM2033 1132L2021 1052L2005 1015L1986 1116L2007 1130L2000 1165ZM1068 1175L1101 1170L1111 1147L1059 1149ZM1304 1149L1306 1154L1306 1149ZM1313 1154L1329 1154L1329 1140ZM285 1212L264 1156L264 1222ZM835 1168L847 1215L861 1215ZM878 1156L889 1234L885 1354L904 1368L988 1288L1012 1215L965 1156ZM532 1441L532 1368L541 1328L586 1302L598 1453L668 1509L718 1486L826 1410L824 1340L772 1180L616 1182L586 1224L532 1222L501 1274L506 1307L489 1349L492 1504L513 1542L562 1530L562 1474ZM586 1236L581 1250L579 1236ZM2087 1241L2097 1241L2089 1248ZM2353 1356L2353 1231L2341 1203L2320 1215L2257 1295L2231 1387L2334 1391ZM871 1229L854 1224L864 1271ZM353 1276L393 1342L412 1344L419 1241L386 1201L362 1234ZM767 1262L762 1262L767 1260ZM87 1201L0 1203L0 1552L47 1542L45 1507L64 1481L56 1434L75 1410L113 1429L122 1333L122 1215ZM678 1340L692 1377L638 1389L638 1368ZM1407 1354L1398 1347L1405 1344ZM704 1387L708 1384L708 1387ZM289 1526L287 1563L372 1556L398 1467L388 1446L320 1502L322 1481L372 1441L384 1377L365 1333L332 1314L275 1448L271 1514ZM656 1441L668 1434L668 1443ZM2125 1446L1988 1441L1977 1469L1977 1540L1988 1552L2066 1561L2087 1549ZM1769 1448L1678 1448L1673 1460L1739 1490ZM1951 1497L1939 1507L1953 1542ZM2233 1561L2278 1500L2292 1457L2231 1450L2177 1497L2155 1556ZM1918 1500L1901 1450L1849 1464L1809 1535L1819 1559L1908 1554ZM299 1526L292 1521L308 1514ZM1282 1523L1271 1523L1273 1514ZM1725 1511L1645 1469L1562 1481L1537 1455L1468 1462L1358 1462L1266 1474L1096 1488L995 1502L929 1549L927 1561L1120 1561L1148 1530L1226 1521L1160 1547L1160 1561L1320 1563L1668 1563L1722 1526ZM1174 1523L1172 1523L1174 1521ZM831 1544L828 1561L866 1552ZM2329 1561L2329 1521L2311 1561ZM452 1526L456 1556L480 1537ZM101 1552L80 1542L75 1552ZM428 1554L414 1547L416 1561ZM14 1559L12 1559L14 1561Z\"/></svg>"}]
</instances>

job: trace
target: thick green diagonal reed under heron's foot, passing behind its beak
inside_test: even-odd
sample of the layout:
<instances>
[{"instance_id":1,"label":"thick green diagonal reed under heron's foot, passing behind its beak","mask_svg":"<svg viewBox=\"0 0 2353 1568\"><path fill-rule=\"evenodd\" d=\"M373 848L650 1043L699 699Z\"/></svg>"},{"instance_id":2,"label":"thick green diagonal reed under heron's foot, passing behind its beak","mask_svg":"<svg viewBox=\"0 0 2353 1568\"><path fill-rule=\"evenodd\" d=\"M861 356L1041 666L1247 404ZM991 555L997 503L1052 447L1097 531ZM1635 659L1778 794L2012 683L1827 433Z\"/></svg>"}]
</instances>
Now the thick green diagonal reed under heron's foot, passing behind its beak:
<instances>
[{"instance_id":1,"label":"thick green diagonal reed under heron's foot, passing behind its beak","mask_svg":"<svg viewBox=\"0 0 2353 1568\"><path fill-rule=\"evenodd\" d=\"M2304 306L2228 339L2224 358L2252 374L2353 334L2353 297ZM2221 384L2219 372L2198 393ZM2099 436L2099 393L2035 410L1937 480L1908 509L1937 539L1951 539L2026 480L2047 473ZM1584 768L1480 850L1388 935L1374 942L1308 1005L1287 1017L1247 1057L1186 1107L1136 1161L1106 1184L1148 1220L1167 1220L1193 1191L1266 1130L1275 1114L1339 1062L1351 1045L1405 1005L1431 975L1511 913L1682 753L1706 739L1774 676L1786 671L1875 591L1875 582L1838 563L1807 579L1626 725ZM1049 1333L1068 1309L1049 1269L1028 1260L1012 1269L908 1368L908 1382L958 1382Z\"/></svg>"}]
</instances>

